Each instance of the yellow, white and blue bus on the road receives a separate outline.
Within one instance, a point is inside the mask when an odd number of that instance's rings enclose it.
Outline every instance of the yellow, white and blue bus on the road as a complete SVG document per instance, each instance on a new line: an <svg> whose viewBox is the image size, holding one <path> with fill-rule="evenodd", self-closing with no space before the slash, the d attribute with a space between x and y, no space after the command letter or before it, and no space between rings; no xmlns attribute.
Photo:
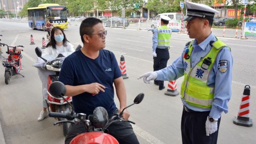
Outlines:
<svg viewBox="0 0 256 144"><path fill-rule="evenodd" d="M39 4L38 7L28 8L28 25L32 29L46 30L46 20L53 26L68 28L67 8L59 4Z"/></svg>

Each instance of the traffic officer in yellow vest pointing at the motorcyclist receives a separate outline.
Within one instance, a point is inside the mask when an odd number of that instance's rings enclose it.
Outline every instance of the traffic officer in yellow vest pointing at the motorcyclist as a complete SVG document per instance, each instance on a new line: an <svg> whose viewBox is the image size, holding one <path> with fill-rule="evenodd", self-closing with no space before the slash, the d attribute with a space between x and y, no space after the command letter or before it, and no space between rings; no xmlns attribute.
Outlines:
<svg viewBox="0 0 256 144"><path fill-rule="evenodd" d="M150 80L176 80L184 76L182 143L216 144L221 114L228 112L233 59L230 48L211 32L214 14L219 12L193 2L186 2L186 9L188 35L195 40L186 44L171 66L139 78L148 84Z"/></svg>

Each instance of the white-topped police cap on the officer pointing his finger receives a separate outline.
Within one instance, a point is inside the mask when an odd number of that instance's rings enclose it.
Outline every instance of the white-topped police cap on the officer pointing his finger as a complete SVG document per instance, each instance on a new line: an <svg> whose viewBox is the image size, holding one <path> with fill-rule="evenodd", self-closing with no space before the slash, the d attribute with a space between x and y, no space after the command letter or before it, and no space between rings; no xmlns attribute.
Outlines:
<svg viewBox="0 0 256 144"><path fill-rule="evenodd" d="M192 20L196 17L212 19L214 18L214 14L220 14L220 12L205 4L186 2L185 6L187 9L187 15L185 16L183 21Z"/></svg>

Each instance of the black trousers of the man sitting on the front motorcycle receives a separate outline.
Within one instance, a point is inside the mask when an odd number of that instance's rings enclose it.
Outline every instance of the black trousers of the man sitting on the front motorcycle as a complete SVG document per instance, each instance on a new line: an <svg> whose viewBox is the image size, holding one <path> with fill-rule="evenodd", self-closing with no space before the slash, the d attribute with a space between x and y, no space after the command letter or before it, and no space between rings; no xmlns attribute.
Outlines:
<svg viewBox="0 0 256 144"><path fill-rule="evenodd" d="M107 129L108 132L106 133L114 136L114 138L118 140L119 144L140 144L129 122L114 122ZM76 125L70 124L65 144L69 144L75 136L85 132L86 130L83 123Z"/></svg>

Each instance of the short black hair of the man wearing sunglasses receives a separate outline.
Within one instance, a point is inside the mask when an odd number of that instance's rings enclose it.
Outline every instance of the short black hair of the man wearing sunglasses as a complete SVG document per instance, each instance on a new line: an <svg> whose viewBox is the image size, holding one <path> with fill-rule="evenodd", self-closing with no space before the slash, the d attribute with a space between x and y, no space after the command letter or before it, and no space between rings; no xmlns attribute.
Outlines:
<svg viewBox="0 0 256 144"><path fill-rule="evenodd" d="M93 33L92 27L98 23L102 23L98 18L86 18L82 21L80 25L80 36L81 40L84 43L84 34L90 35Z"/></svg>

